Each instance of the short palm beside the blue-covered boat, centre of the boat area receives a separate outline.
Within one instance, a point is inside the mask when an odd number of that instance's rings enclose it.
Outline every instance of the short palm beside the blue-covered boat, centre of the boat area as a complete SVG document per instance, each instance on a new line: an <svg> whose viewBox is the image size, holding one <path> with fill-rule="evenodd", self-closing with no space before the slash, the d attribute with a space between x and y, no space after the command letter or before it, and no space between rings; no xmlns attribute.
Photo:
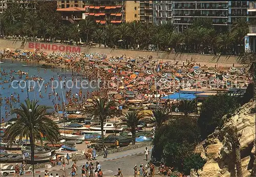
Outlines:
<svg viewBox="0 0 256 177"><path fill-rule="evenodd" d="M124 117L121 118L120 125L126 125L132 130L132 142L135 144L136 139L136 127L140 124L140 120L144 117L139 111L128 111L124 114Z"/></svg>

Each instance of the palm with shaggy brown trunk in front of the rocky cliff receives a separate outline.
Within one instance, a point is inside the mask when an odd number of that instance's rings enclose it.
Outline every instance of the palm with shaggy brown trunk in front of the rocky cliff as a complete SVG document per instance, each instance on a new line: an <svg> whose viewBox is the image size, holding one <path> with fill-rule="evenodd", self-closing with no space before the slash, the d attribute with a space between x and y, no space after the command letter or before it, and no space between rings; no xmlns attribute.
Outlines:
<svg viewBox="0 0 256 177"><path fill-rule="evenodd" d="M243 176L243 172L242 172L242 162L241 162L241 153L240 153L240 138L241 135L240 133L238 133L238 129L237 127L228 127L226 130L227 134L227 141L229 141L232 145L232 153L234 156L234 159L236 159L236 169L237 169L237 176L238 177L242 177Z"/></svg>

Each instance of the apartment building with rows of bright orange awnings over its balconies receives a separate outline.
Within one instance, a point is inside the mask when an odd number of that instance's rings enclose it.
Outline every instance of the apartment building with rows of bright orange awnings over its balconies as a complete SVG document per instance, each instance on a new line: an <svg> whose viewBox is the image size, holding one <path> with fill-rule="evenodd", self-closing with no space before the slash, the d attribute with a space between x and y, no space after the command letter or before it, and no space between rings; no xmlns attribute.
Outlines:
<svg viewBox="0 0 256 177"><path fill-rule="evenodd" d="M125 22L125 1L84 1L84 18L91 17L102 25Z"/></svg>

